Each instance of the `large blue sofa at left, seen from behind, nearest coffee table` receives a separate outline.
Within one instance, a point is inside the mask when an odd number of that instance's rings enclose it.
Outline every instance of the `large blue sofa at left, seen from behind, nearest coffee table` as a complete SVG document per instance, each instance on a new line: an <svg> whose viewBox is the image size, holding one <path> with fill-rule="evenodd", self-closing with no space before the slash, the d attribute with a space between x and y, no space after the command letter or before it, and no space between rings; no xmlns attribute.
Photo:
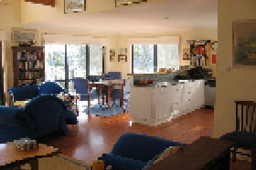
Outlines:
<svg viewBox="0 0 256 170"><path fill-rule="evenodd" d="M62 100L54 95L37 95L25 107L0 106L0 144L21 137L37 139L52 132L69 133L66 118L74 122Z"/></svg>

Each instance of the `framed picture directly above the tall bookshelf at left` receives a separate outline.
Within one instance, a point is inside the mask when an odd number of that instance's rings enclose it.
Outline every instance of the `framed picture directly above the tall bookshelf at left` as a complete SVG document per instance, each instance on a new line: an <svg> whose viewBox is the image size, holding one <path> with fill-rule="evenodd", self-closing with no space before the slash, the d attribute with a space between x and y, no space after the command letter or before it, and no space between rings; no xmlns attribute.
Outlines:
<svg viewBox="0 0 256 170"><path fill-rule="evenodd" d="M13 29L13 43L36 43L37 30L35 29Z"/></svg>

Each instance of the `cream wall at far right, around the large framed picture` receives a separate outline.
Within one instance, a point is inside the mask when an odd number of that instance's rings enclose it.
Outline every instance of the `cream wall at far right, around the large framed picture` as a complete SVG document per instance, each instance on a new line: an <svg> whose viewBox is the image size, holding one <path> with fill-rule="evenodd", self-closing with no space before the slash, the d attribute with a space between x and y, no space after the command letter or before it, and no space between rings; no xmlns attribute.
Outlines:
<svg viewBox="0 0 256 170"><path fill-rule="evenodd" d="M235 130L235 100L256 101L255 67L225 71L232 65L232 22L245 19L256 19L255 0L218 1L219 54L213 137Z"/></svg>

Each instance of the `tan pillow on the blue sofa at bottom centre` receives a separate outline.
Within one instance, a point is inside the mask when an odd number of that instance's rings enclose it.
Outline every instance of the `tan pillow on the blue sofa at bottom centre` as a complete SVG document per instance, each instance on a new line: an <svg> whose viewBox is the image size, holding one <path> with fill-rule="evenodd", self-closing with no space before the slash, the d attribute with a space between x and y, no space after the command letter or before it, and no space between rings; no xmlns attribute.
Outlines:
<svg viewBox="0 0 256 170"><path fill-rule="evenodd" d="M169 146L160 155L155 155L155 157L152 160L148 161L147 164L144 166L144 169L146 169L147 167L150 167L151 165L154 165L155 163L163 160L166 157L174 155L176 151L182 148L183 148L183 145Z"/></svg>

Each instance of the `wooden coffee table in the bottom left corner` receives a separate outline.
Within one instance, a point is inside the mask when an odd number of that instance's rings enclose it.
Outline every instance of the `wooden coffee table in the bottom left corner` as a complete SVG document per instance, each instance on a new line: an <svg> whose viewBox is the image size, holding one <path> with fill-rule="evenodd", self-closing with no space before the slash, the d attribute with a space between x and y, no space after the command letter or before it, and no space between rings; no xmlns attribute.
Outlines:
<svg viewBox="0 0 256 170"><path fill-rule="evenodd" d="M37 149L20 151L13 142L0 144L0 169L15 168L23 164L30 164L31 169L38 169L37 158L58 155L59 149L48 145L38 144Z"/></svg>

